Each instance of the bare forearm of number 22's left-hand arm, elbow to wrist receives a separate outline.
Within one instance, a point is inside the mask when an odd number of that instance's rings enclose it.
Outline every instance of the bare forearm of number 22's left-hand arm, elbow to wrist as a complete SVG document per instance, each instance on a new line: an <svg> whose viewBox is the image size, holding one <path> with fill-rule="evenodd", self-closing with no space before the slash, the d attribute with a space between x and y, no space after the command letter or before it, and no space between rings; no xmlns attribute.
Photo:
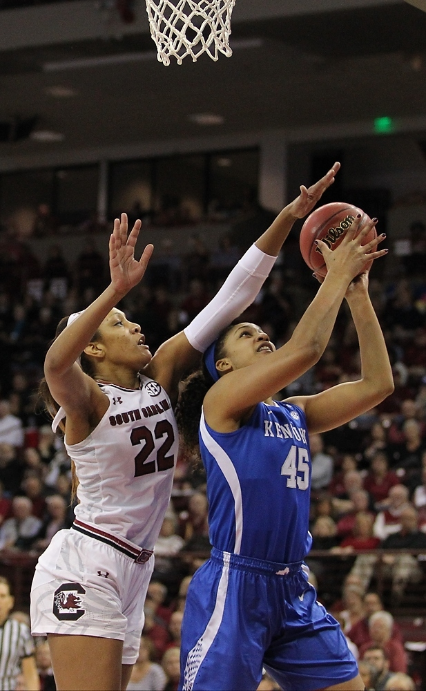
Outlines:
<svg viewBox="0 0 426 691"><path fill-rule="evenodd" d="M93 339L93 334L110 310L124 297L112 285L93 301L81 315L59 334L46 354L45 372L68 370Z"/></svg>

